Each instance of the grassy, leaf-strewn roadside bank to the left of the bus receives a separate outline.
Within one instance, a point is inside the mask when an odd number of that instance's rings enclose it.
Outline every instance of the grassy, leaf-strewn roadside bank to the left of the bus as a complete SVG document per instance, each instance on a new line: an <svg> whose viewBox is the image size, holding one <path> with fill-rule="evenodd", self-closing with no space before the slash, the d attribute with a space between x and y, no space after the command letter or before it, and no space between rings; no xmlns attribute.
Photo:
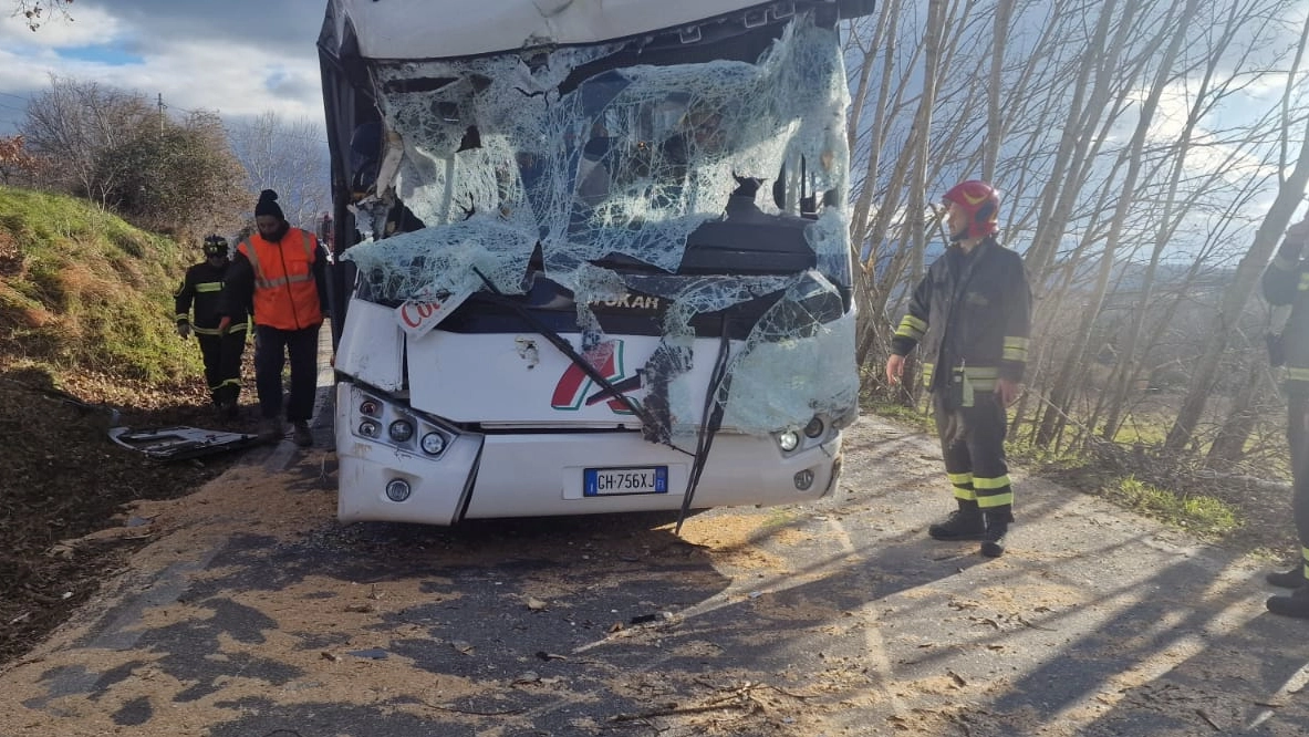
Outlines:
<svg viewBox="0 0 1309 737"><path fill-rule="evenodd" d="M187 249L85 202L0 187L0 661L120 562L122 505L183 495L229 457L158 465L106 435L213 427L195 340L173 327ZM127 535L141 538L141 535ZM96 542L103 541L103 542Z"/></svg>

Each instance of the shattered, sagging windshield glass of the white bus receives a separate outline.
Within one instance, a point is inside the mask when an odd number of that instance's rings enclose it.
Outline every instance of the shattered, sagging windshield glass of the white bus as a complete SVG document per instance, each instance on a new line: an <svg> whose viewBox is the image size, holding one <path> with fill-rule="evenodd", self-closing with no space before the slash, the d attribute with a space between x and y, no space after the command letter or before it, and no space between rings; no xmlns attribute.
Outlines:
<svg viewBox="0 0 1309 737"><path fill-rule="evenodd" d="M734 365L759 374L759 386L776 385L767 365L749 367L785 357L791 373L813 372L812 385L781 402L729 402L728 418L767 432L802 427L816 411L848 414L857 394L853 321L831 314L830 301L817 313L804 306L817 304L814 289L848 305L851 285L836 33L800 16L749 60L699 63L634 64L636 43L377 65L394 162L382 164L377 191L393 189L421 226L353 246L346 258L373 298L390 301L467 289L518 295L543 274L573 293L590 334L600 331L590 305L653 295L672 305L664 342L678 350L690 346L695 315L780 295ZM795 243L779 247L804 250L812 266L691 272L692 234L703 240L702 225L723 223L732 200L745 200L738 221L792 233ZM384 233L390 208L380 198L360 203L361 232L372 221ZM796 342L812 344L795 350ZM764 360L779 350L795 352ZM732 391L749 378L737 376ZM679 429L675 419L670 425Z"/></svg>

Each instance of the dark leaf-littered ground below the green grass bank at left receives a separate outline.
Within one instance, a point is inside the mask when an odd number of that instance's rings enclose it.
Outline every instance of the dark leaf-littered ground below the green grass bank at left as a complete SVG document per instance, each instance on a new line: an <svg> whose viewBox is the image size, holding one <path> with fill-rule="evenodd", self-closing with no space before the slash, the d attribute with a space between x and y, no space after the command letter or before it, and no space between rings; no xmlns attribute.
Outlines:
<svg viewBox="0 0 1309 737"><path fill-rule="evenodd" d="M60 382L89 404L131 403L134 425L204 425L200 376L171 386L67 376ZM33 369L0 368L0 661L29 649L97 589L135 546L154 539L148 516L124 504L183 496L226 469L233 458L160 465L115 446L105 422L39 390L54 380ZM51 539L59 541L52 543ZM67 596L65 596L67 594Z"/></svg>

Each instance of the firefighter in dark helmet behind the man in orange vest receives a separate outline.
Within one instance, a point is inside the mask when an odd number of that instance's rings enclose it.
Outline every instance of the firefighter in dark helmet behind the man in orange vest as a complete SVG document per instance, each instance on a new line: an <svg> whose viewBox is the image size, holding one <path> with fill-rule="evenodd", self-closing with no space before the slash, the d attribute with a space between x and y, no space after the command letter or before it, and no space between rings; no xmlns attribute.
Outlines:
<svg viewBox="0 0 1309 737"><path fill-rule="evenodd" d="M177 288L177 334L185 340L195 333L204 357L204 378L209 397L221 419L237 418L237 399L241 395L241 353L245 352L246 321L233 321L224 334L219 330L223 318L220 302L228 272L228 241L223 236L204 238L204 262L186 270L186 279ZM195 312L195 322L188 313Z"/></svg>

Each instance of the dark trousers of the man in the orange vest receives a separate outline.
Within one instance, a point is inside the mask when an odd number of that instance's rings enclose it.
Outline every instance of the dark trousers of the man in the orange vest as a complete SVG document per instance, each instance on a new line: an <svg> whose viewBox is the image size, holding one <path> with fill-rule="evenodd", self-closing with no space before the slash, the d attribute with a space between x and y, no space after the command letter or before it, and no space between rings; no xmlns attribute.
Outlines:
<svg viewBox="0 0 1309 737"><path fill-rule="evenodd" d="M287 419L308 422L314 416L318 391L318 327L278 330L255 326L254 384L259 391L259 412L264 419L281 416L281 369L291 360L291 394Z"/></svg>

